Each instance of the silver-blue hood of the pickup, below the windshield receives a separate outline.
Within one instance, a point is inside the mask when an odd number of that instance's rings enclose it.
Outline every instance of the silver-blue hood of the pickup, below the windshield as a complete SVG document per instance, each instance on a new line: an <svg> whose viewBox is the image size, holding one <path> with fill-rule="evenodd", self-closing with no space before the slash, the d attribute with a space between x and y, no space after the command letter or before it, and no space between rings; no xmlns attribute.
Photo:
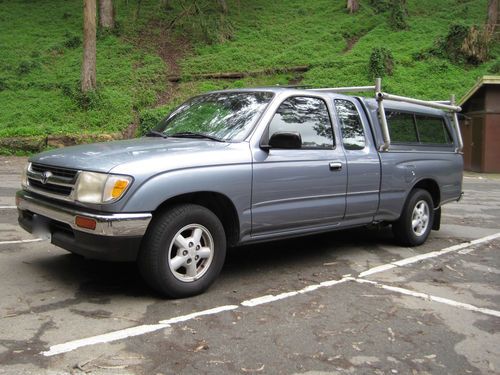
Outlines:
<svg viewBox="0 0 500 375"><path fill-rule="evenodd" d="M46 151L32 156L30 161L61 168L109 172L122 164L141 161L151 163L166 155L177 159L186 154L205 154L207 151L222 150L228 145L192 138L144 137Z"/></svg>

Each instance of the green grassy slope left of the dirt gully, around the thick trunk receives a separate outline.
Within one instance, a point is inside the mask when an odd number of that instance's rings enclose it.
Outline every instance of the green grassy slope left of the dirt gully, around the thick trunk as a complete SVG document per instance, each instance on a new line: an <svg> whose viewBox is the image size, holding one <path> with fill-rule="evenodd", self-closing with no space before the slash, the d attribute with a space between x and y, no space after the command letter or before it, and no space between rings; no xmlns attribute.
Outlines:
<svg viewBox="0 0 500 375"><path fill-rule="evenodd" d="M127 24L126 2L117 8ZM98 90L82 108L80 0L0 2L0 20L0 137L119 132L163 89L163 61L125 42L128 27L98 38Z"/></svg>

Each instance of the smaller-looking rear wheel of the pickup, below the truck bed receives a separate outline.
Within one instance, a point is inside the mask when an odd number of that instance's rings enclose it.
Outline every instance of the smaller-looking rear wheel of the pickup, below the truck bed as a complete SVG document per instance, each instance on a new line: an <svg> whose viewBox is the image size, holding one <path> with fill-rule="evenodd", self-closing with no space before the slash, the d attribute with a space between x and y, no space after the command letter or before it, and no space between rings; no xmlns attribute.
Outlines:
<svg viewBox="0 0 500 375"><path fill-rule="evenodd" d="M403 246L422 245L429 237L434 219L434 203L427 190L411 191L398 221L392 224L392 232Z"/></svg>

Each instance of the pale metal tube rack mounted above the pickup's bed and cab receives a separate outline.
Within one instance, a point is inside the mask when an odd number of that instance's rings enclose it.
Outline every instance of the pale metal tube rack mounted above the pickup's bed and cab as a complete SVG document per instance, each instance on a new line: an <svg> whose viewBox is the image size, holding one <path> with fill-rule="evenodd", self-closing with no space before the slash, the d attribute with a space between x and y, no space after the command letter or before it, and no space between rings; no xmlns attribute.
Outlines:
<svg viewBox="0 0 500 375"><path fill-rule="evenodd" d="M382 127L382 137L384 138L384 144L380 146L380 151L387 151L389 149L389 146L391 145L389 127L387 126L387 119L385 117L384 99L395 100L404 103L418 104L425 107L437 108L451 112L453 125L457 133L457 140L458 140L457 151L461 152L463 149L462 135L460 133L460 126L458 124L458 117L457 117L457 113L460 112L462 108L455 105L455 95L452 95L451 99L448 101L428 101L428 100L409 98L406 96L388 94L382 91L382 79L380 78L375 79L375 86L331 87L331 88L321 88L321 89L311 89L311 90L335 92L335 93L374 91L375 100L378 103L378 116Z"/></svg>

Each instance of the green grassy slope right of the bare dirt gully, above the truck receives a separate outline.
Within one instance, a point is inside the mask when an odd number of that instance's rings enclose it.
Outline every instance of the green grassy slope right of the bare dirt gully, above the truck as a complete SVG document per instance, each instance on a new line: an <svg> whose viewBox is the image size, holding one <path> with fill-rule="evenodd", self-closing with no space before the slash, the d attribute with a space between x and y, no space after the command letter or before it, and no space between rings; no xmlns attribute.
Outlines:
<svg viewBox="0 0 500 375"><path fill-rule="evenodd" d="M238 8L237 3L241 4ZM350 15L345 1L288 0L232 1L230 19L236 25L234 39L217 45L196 44L195 53L182 62L186 76L202 72L245 71L311 65L302 83L317 86L372 84L368 78L371 50L385 47L395 58L394 74L385 77L384 87L401 95L424 99L458 97L482 75L491 74L500 48L493 46L493 58L479 67L453 65L440 58L415 61L413 54L429 49L445 36L451 24L481 24L486 17L486 0L409 3L407 31L393 31L388 15L376 13L368 0ZM285 5L286 4L286 5ZM350 51L346 39L359 40Z"/></svg>

